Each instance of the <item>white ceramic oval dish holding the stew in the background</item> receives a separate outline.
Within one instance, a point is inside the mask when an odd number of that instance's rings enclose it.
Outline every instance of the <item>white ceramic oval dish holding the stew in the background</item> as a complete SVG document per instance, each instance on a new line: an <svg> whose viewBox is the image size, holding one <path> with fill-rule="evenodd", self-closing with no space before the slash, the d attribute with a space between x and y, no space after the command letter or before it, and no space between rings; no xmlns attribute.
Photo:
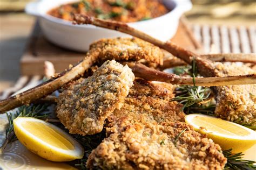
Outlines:
<svg viewBox="0 0 256 170"><path fill-rule="evenodd" d="M102 29L93 25L72 25L63 19L47 14L49 10L61 4L78 0L41 0L26 5L26 13L37 16L45 37L56 45L75 51L85 52L91 42L101 38L127 37L127 34ZM166 8L171 10L163 16L150 20L129 23L130 26L150 34L154 38L167 41L177 31L179 18L192 8L190 0L163 0Z"/></svg>

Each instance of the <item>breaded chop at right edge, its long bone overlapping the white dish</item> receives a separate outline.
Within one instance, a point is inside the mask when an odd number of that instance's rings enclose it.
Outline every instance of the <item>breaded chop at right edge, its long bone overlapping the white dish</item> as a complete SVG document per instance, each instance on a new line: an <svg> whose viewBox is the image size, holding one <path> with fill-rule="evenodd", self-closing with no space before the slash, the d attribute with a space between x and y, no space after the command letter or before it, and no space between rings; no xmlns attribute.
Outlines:
<svg viewBox="0 0 256 170"><path fill-rule="evenodd" d="M205 77L222 77L241 74L246 74L248 76L248 74L251 74L251 77L249 79L251 79L251 83L253 83L252 85L223 86L215 88L217 91L217 105L215 109L215 115L227 119L228 121L240 120L241 123L255 124L256 73L253 72L251 68L244 66L242 70L239 70L239 67L235 65L226 66L220 62L214 63L211 60L201 58L199 54L178 47L172 42L162 42L158 39L155 39L143 32L129 27L125 23L100 20L97 18L83 15L75 15L75 21L78 24L92 24L107 29L124 32L134 37L138 37L145 41L151 42L152 44L159 46L160 48L165 49L174 56L177 56L178 58L184 60L188 64L190 64L194 58L198 66L199 73Z"/></svg>

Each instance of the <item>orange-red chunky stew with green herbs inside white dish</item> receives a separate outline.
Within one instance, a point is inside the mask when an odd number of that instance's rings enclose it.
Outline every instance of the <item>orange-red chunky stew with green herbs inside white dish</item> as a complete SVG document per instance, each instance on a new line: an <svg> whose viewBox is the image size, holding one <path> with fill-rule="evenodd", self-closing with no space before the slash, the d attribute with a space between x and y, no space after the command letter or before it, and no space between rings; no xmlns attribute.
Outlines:
<svg viewBox="0 0 256 170"><path fill-rule="evenodd" d="M48 12L49 15L73 20L74 13L119 22L137 22L156 18L169 12L158 0L83 0L60 5Z"/></svg>

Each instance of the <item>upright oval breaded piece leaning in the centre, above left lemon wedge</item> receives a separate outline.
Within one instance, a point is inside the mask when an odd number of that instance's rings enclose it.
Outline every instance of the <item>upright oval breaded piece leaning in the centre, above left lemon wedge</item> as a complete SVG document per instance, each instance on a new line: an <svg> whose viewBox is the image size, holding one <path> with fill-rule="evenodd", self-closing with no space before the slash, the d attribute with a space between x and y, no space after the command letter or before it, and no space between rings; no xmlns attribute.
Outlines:
<svg viewBox="0 0 256 170"><path fill-rule="evenodd" d="M106 61L92 76L77 80L60 94L57 117L70 133L98 133L107 116L122 107L133 80L129 67Z"/></svg>

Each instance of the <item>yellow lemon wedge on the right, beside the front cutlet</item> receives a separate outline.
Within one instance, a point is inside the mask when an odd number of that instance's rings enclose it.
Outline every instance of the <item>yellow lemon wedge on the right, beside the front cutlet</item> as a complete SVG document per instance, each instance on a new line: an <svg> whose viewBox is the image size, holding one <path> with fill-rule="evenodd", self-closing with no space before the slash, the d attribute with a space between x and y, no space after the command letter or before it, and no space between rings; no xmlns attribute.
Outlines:
<svg viewBox="0 0 256 170"><path fill-rule="evenodd" d="M201 114L187 115L185 122L199 133L207 134L223 150L232 148L233 153L238 153L256 144L255 131L233 122Z"/></svg>

